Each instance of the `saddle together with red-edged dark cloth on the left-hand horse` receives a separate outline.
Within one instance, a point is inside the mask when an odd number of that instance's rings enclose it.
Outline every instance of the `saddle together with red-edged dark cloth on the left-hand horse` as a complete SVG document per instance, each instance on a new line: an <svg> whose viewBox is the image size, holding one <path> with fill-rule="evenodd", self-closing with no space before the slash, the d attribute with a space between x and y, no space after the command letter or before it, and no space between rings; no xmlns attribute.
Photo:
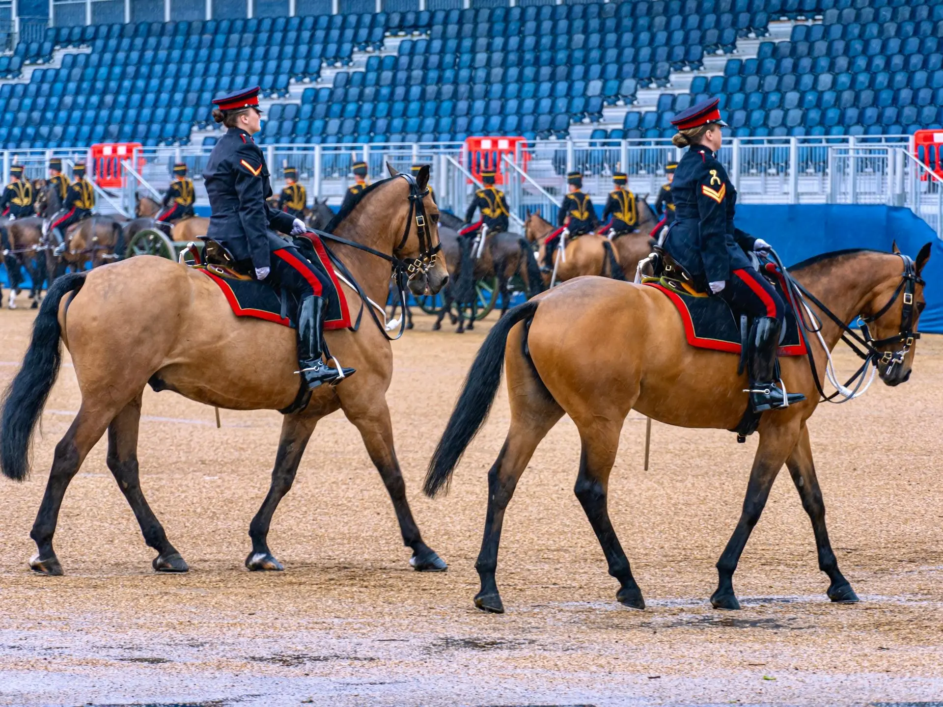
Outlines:
<svg viewBox="0 0 943 707"><path fill-rule="evenodd" d="M288 290L276 290L267 282L256 280L249 274L252 264L237 260L222 243L205 236L200 240L204 242L202 255L195 246L187 249L193 256L193 265L190 267L204 272L223 290L233 314L298 328L299 303ZM294 246L330 280L331 286L325 287L322 292L325 302L324 330L351 327L347 299L321 239L313 235L294 238Z"/></svg>

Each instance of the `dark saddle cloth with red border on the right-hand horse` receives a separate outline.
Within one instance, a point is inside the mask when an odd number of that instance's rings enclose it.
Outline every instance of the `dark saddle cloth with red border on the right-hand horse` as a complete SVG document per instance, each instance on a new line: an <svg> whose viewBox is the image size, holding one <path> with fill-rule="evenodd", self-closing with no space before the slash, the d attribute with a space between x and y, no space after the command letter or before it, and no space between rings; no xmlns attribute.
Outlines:
<svg viewBox="0 0 943 707"><path fill-rule="evenodd" d="M805 338L793 313L792 298L784 291L782 274L772 263L767 263L764 270L769 273L773 286L786 303L786 333L780 342L779 355L804 356ZM685 325L688 344L699 349L740 353L742 346L739 318L734 316L730 305L720 297L691 295L682 288L666 287L660 282L647 282L645 285L664 292L674 304Z"/></svg>

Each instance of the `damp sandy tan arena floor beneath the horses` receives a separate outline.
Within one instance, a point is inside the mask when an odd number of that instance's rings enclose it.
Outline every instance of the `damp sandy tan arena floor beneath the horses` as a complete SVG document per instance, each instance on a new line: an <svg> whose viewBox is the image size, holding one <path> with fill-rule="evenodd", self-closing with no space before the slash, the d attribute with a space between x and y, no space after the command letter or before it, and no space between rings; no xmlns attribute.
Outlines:
<svg viewBox="0 0 943 707"><path fill-rule="evenodd" d="M0 385L32 314L0 312ZM486 473L505 435L504 393L455 473L422 497L425 464L487 326L416 329L394 344L397 452L425 540L444 574L407 565L392 506L354 427L325 419L273 522L284 573L252 573L250 518L269 483L274 412L144 396L141 478L190 563L151 570L153 551L105 465L104 440L66 496L61 578L26 562L53 448L79 404L63 368L34 472L0 480L0 703L16 705L943 705L943 337L924 337L911 381L820 406L811 422L829 530L861 596L831 604L788 474L773 487L736 573L744 605L707 598L734 528L756 441L625 424L610 512L648 608L617 583L572 494L579 446L564 419L538 448L505 520L505 616L477 612L473 563ZM487 322L486 322L487 324ZM852 370L852 357L838 356Z"/></svg>

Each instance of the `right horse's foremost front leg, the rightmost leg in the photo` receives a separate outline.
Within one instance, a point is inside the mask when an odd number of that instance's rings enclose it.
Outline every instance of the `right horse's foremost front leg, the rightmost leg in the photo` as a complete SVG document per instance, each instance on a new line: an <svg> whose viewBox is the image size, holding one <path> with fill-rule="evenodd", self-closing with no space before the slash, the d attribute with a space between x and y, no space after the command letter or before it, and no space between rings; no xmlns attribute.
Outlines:
<svg viewBox="0 0 943 707"><path fill-rule="evenodd" d="M833 601L851 603L858 600L852 584L838 569L838 560L832 551L832 544L828 539L828 530L825 528L825 503L822 501L822 492L819 488L819 478L816 476L816 466L812 461L812 446L809 444L809 431L802 425L802 432L796 448L786 459L786 467L792 475L792 481L802 499L802 508L809 514L812 521L812 532L816 535L816 548L819 551L819 569L828 575L832 584L828 588L828 597Z"/></svg>

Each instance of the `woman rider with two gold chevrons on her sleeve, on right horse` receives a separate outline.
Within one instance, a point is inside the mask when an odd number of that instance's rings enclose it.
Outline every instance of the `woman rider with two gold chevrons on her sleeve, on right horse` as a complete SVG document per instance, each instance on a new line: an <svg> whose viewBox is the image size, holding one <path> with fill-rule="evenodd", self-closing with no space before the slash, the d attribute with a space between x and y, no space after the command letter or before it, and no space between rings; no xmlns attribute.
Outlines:
<svg viewBox="0 0 943 707"><path fill-rule="evenodd" d="M671 184L675 219L664 248L696 284L722 298L737 319L753 318L749 338L750 402L753 410L786 407L805 400L777 385L776 349L786 317L786 305L755 268L746 252L769 250L769 243L753 238L734 225L736 189L717 159L723 141L720 99L703 101L678 113L671 124L671 141L688 147ZM706 286L706 287L705 287Z"/></svg>

